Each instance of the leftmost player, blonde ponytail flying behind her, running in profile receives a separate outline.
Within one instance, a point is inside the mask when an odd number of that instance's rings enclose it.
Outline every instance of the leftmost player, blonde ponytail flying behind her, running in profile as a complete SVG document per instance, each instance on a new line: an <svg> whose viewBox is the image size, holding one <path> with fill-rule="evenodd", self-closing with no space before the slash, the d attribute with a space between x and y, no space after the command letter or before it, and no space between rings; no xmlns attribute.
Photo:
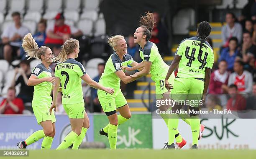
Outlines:
<svg viewBox="0 0 256 159"><path fill-rule="evenodd" d="M54 77L51 77L49 65L53 62L53 54L49 47L38 48L31 33L23 38L23 49L27 52L28 59L36 58L41 60L28 79L28 86L34 86L32 108L37 119L37 123L43 127L31 134L25 141L18 142L18 149L25 149L28 145L37 142L44 137L41 149L50 149L55 135L55 116L49 114L51 106L51 90L53 89Z"/></svg>

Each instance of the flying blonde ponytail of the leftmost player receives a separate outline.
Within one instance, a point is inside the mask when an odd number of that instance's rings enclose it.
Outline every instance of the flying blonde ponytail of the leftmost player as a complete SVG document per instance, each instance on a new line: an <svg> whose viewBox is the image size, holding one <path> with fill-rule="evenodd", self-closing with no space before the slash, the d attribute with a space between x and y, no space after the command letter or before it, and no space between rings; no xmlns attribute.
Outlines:
<svg viewBox="0 0 256 159"><path fill-rule="evenodd" d="M28 33L23 38L22 47L25 50L26 57L28 57L28 59L41 59L41 55L44 55L46 53L46 50L49 48L45 46L41 46L40 48L38 48L38 45L32 37L31 33Z"/></svg>

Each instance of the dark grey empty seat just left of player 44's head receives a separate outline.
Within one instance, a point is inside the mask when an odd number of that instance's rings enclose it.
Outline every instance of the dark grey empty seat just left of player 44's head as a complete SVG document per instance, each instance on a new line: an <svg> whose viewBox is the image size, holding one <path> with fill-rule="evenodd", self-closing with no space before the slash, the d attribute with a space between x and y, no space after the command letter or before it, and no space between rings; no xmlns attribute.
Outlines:
<svg viewBox="0 0 256 159"><path fill-rule="evenodd" d="M172 21L174 35L187 35L189 27L195 25L195 10L182 9L174 16Z"/></svg>

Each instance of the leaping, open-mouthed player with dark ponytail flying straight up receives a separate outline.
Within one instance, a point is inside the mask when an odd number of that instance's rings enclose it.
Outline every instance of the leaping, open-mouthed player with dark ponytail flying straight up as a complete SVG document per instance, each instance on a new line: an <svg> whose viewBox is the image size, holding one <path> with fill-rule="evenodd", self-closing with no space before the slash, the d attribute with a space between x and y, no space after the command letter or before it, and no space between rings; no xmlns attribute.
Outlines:
<svg viewBox="0 0 256 159"><path fill-rule="evenodd" d="M140 45L140 56L143 60L139 65L135 67L122 67L124 70L137 70L143 68L140 72L136 72L131 77L136 78L139 76L145 76L151 73L151 79L156 83L156 99L164 100L169 98L169 90L164 87L164 79L168 72L169 66L162 60L159 54L158 48L153 42L150 42L151 31L154 27L153 13L147 12L145 16L141 16L139 22L140 27L134 32L134 42ZM174 81L174 73L169 78L169 82L172 84ZM167 110L170 106L162 105L160 110ZM164 119L168 127L168 116L166 114L160 114ZM183 118L185 122L189 123L189 119ZM181 137L178 129L176 132L176 144L177 148L182 148L187 142Z"/></svg>

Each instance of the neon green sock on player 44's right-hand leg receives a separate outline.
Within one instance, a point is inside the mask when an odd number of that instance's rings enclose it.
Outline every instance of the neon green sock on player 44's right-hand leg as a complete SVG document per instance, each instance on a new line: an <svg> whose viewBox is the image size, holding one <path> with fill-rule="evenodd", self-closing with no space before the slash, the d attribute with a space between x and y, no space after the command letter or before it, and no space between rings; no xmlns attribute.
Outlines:
<svg viewBox="0 0 256 159"><path fill-rule="evenodd" d="M190 127L192 130L192 145L197 144L198 146L198 136L199 136L199 131L200 131L200 119L198 116L193 116L190 119Z"/></svg>

